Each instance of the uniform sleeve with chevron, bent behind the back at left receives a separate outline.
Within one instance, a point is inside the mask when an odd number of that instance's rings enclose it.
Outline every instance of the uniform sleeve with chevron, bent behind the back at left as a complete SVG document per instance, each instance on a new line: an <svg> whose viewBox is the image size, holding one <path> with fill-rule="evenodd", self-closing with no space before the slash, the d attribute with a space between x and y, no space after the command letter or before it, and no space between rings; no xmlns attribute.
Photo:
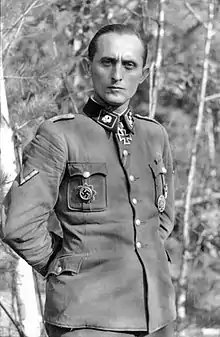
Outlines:
<svg viewBox="0 0 220 337"><path fill-rule="evenodd" d="M44 122L24 151L23 172L7 194L2 240L39 273L59 249L61 238L48 231L66 166L66 144L51 121Z"/></svg>

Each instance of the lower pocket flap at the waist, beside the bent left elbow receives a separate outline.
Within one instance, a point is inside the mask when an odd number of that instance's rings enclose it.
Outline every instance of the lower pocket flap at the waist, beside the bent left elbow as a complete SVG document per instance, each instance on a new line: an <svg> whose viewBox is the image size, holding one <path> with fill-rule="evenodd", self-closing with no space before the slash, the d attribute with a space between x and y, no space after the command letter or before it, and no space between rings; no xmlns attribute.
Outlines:
<svg viewBox="0 0 220 337"><path fill-rule="evenodd" d="M55 258L48 268L46 277L48 277L50 274L58 276L64 272L78 274L83 259L83 256L77 255L66 255Z"/></svg>

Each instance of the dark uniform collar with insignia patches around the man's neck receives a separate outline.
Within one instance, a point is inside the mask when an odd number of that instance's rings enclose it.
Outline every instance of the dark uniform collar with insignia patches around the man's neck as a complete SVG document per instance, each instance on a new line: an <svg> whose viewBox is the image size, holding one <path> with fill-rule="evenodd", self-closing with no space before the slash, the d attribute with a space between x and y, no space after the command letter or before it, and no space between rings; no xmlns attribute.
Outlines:
<svg viewBox="0 0 220 337"><path fill-rule="evenodd" d="M117 133L118 124L122 122L129 133L134 133L134 119L130 108L119 116L114 112L112 106L104 107L89 98L83 111L88 117L93 118L98 124L110 132Z"/></svg>

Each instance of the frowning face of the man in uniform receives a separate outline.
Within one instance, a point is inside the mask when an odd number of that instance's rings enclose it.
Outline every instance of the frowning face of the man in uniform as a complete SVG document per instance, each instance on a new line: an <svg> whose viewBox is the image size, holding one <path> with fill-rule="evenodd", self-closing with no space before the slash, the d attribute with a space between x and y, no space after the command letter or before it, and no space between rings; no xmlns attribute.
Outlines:
<svg viewBox="0 0 220 337"><path fill-rule="evenodd" d="M100 103L127 107L145 78L143 54L144 47L136 35L107 33L100 36L90 64L94 98Z"/></svg>

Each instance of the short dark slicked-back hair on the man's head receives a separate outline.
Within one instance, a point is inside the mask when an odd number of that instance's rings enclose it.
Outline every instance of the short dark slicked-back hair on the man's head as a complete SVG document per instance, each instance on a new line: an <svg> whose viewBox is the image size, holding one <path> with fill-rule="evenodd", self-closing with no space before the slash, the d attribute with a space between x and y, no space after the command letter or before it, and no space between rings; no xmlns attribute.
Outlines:
<svg viewBox="0 0 220 337"><path fill-rule="evenodd" d="M123 24L120 24L120 23L115 23L115 24L103 26L97 31L97 33L94 35L94 37L90 41L89 47L88 47L88 57L89 57L90 61L93 60L94 55L96 53L98 39L100 38L100 36L102 36L104 34L108 34L108 33L117 33L119 35L130 34L130 35L137 36L138 39L140 40L140 42L142 43L143 47L144 47L143 64L144 65L146 64L148 49L147 49L147 45L144 43L142 37L132 26L123 25Z"/></svg>

